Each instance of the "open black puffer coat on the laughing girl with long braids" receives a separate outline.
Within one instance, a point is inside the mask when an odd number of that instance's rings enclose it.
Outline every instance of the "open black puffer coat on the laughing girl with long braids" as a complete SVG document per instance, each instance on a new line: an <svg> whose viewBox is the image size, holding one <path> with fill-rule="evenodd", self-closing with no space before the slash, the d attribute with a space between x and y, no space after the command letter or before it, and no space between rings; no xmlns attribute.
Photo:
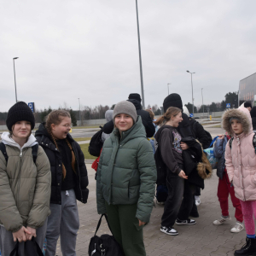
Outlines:
<svg viewBox="0 0 256 256"><path fill-rule="evenodd" d="M62 181L62 160L61 153L52 142L49 133L44 127L44 123L39 125L36 131L38 144L44 148L44 152L49 158L51 172L51 195L50 203L61 205L61 181ZM73 140L70 134L67 134L67 139L71 143L73 152L76 158L76 186L74 188L77 200L86 203L89 195L88 174L84 164L84 154L79 146L79 143Z"/></svg>

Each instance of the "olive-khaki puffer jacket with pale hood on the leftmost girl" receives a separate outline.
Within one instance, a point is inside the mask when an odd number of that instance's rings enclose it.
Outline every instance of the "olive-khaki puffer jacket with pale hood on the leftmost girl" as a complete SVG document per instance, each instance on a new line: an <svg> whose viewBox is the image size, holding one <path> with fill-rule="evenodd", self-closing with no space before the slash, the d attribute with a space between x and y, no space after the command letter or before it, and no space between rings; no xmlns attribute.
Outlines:
<svg viewBox="0 0 256 256"><path fill-rule="evenodd" d="M6 166L0 151L0 224L13 233L20 230L22 225L38 229L50 214L49 160L39 146L34 164L31 147L36 143L36 138L33 135L20 148L9 138L9 132L4 133L2 139L9 159Z"/></svg>

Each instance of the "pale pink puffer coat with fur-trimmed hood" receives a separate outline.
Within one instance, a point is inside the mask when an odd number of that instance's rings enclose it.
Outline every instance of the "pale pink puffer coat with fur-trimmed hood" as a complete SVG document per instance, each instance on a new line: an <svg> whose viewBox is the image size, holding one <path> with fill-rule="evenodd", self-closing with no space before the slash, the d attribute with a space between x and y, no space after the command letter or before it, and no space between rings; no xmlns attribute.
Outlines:
<svg viewBox="0 0 256 256"><path fill-rule="evenodd" d="M232 131L230 118L241 120L243 132L237 135ZM234 137L230 149L227 143L225 151L226 169L233 181L235 194L241 201L256 201L256 154L253 148L252 119L247 108L227 110L223 115L223 127Z"/></svg>

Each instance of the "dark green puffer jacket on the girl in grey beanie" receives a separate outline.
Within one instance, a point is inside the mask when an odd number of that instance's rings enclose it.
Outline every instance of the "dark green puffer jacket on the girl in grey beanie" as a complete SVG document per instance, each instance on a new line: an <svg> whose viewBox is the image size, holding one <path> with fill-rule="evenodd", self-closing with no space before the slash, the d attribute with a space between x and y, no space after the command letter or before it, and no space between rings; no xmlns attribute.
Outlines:
<svg viewBox="0 0 256 256"><path fill-rule="evenodd" d="M148 222L154 205L156 167L151 144L140 116L120 138L115 128L102 149L97 169L96 199L99 214L105 201L113 205L137 203L136 218Z"/></svg>

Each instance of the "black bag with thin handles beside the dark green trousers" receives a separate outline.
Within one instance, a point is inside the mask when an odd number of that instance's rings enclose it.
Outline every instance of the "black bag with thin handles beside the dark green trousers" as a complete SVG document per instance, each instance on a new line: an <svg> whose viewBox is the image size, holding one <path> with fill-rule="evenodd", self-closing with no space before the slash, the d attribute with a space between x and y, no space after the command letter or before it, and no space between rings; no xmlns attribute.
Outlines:
<svg viewBox="0 0 256 256"><path fill-rule="evenodd" d="M108 223L107 215L102 214L102 217L103 216L105 216ZM99 230L102 224L102 217L98 222L96 232ZM111 231L109 224L108 224L108 228ZM104 234L99 237L99 236L96 236L96 232L94 236L90 238L90 244L88 249L89 256L125 256L122 248L119 246L119 243L114 239L113 236Z"/></svg>

